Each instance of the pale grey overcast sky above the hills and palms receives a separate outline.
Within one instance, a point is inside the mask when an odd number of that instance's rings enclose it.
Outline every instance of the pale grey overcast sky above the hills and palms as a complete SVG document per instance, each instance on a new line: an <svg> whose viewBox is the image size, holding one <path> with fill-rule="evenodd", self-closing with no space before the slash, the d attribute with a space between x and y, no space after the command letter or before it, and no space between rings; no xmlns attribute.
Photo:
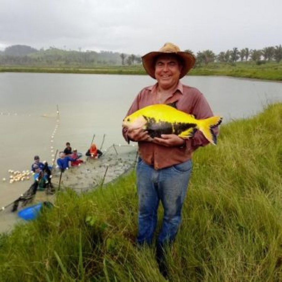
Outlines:
<svg viewBox="0 0 282 282"><path fill-rule="evenodd" d="M281 0L0 0L0 50L261 49L282 44L281 11Z"/></svg>

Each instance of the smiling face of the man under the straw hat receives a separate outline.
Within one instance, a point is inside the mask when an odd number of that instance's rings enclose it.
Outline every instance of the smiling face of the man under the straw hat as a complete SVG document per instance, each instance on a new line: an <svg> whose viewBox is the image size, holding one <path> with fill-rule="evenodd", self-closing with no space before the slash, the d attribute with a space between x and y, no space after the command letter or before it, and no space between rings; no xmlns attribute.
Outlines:
<svg viewBox="0 0 282 282"><path fill-rule="evenodd" d="M159 86L170 89L178 84L182 66L173 55L161 55L156 60L155 76Z"/></svg>

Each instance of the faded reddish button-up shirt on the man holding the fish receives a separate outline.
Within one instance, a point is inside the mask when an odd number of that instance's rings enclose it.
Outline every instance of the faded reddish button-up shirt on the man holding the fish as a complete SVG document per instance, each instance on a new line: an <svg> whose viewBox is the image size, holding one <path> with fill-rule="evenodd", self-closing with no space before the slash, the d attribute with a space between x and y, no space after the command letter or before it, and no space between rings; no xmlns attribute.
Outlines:
<svg viewBox="0 0 282 282"><path fill-rule="evenodd" d="M152 104L158 104L157 83L142 89L134 99L126 116ZM204 119L213 116L212 110L203 94L196 88L178 83L176 91L167 98L164 104L176 102L178 110L193 114L196 119ZM218 129L213 129L218 133ZM123 136L129 143L127 129L123 128ZM152 142L138 142L138 154L148 165L153 165L154 169L159 170L171 165L180 164L191 159L192 152L199 146L205 146L209 141L198 130L193 138L185 139L186 146L166 147Z"/></svg>

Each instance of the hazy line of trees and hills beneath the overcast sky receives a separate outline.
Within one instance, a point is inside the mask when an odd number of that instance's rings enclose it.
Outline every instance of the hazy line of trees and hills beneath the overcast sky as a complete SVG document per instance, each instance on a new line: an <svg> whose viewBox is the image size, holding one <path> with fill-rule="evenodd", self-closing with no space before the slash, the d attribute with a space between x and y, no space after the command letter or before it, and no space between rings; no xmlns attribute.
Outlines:
<svg viewBox="0 0 282 282"><path fill-rule="evenodd" d="M235 64L240 61L254 61L258 65L267 61L280 62L282 60L282 46L270 46L259 49L243 48L238 50L222 51L215 54L212 50L199 51L196 54L192 50L185 50L196 56L196 67L202 64L208 65L210 62L225 62ZM63 50L55 47L49 49L36 50L26 45L12 45L4 51L0 51L0 65L135 65L141 64L142 59L138 55L118 53L112 51L95 52L91 50L79 51Z"/></svg>

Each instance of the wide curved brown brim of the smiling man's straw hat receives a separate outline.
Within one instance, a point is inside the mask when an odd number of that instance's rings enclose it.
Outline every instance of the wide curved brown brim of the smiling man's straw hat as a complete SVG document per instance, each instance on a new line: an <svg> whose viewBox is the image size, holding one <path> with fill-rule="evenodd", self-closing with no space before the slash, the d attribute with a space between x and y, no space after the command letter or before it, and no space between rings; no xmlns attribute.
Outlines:
<svg viewBox="0 0 282 282"><path fill-rule="evenodd" d="M180 57L181 60L183 61L183 67L180 72L179 78L182 78L183 76L185 76L188 73L188 71L191 70L191 68L193 67L196 61L196 58L194 57L194 55L190 53L182 52L182 51L180 52L158 52L158 51L150 52L142 57L142 62L143 62L144 69L146 70L148 75L153 77L154 79L156 79L155 77L155 58L158 55L164 55L164 54L166 55L175 54L178 57Z"/></svg>

